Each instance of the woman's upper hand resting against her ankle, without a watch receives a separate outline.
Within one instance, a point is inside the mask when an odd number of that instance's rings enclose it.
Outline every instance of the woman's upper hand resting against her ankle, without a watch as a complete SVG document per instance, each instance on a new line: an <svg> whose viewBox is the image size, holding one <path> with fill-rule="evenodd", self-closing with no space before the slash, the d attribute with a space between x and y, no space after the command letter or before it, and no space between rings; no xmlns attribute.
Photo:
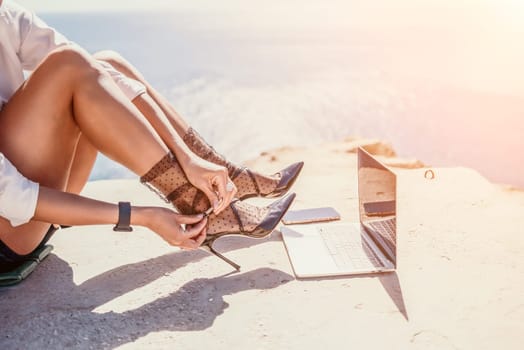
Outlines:
<svg viewBox="0 0 524 350"><path fill-rule="evenodd" d="M214 213L218 214L231 203L237 188L228 176L227 169L193 156L183 166L188 180L205 193Z"/></svg>

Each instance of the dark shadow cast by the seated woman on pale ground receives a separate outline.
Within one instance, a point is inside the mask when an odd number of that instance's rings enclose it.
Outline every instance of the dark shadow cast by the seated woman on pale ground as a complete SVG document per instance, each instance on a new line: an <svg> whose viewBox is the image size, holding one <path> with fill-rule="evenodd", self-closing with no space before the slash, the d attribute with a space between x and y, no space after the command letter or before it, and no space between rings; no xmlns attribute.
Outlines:
<svg viewBox="0 0 524 350"><path fill-rule="evenodd" d="M252 244L255 241L244 245ZM24 283L0 290L0 348L112 349L150 332L203 330L228 307L224 296L276 288L293 280L284 272L261 268L197 278L165 297L122 313L93 311L205 256L202 251L166 254L76 285L68 263L50 255Z"/></svg>

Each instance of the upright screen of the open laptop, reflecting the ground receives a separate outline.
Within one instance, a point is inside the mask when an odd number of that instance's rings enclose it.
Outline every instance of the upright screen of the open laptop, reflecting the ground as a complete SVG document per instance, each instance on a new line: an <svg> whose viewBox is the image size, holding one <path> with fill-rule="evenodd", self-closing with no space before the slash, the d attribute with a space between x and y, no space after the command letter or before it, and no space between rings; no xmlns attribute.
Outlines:
<svg viewBox="0 0 524 350"><path fill-rule="evenodd" d="M361 225L396 266L396 176L362 148L358 149L358 198Z"/></svg>

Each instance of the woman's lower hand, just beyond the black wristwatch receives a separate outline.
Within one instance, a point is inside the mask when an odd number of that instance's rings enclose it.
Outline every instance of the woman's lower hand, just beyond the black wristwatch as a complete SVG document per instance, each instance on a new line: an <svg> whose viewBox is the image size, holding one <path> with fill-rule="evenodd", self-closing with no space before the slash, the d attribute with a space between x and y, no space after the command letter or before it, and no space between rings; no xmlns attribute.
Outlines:
<svg viewBox="0 0 524 350"><path fill-rule="evenodd" d="M154 231L170 245L196 249L206 238L207 218L202 214L181 215L163 207L133 207L131 213L132 222Z"/></svg>

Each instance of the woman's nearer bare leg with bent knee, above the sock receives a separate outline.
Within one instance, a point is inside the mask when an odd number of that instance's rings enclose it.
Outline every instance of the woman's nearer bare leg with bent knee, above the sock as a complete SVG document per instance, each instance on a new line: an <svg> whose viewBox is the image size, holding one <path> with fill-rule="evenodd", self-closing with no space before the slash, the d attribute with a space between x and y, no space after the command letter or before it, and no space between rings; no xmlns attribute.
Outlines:
<svg viewBox="0 0 524 350"><path fill-rule="evenodd" d="M66 190L82 134L138 175L167 153L136 107L88 55L57 50L1 111L0 151L29 179ZM0 218L0 239L27 254L48 227L31 221L13 228Z"/></svg>

